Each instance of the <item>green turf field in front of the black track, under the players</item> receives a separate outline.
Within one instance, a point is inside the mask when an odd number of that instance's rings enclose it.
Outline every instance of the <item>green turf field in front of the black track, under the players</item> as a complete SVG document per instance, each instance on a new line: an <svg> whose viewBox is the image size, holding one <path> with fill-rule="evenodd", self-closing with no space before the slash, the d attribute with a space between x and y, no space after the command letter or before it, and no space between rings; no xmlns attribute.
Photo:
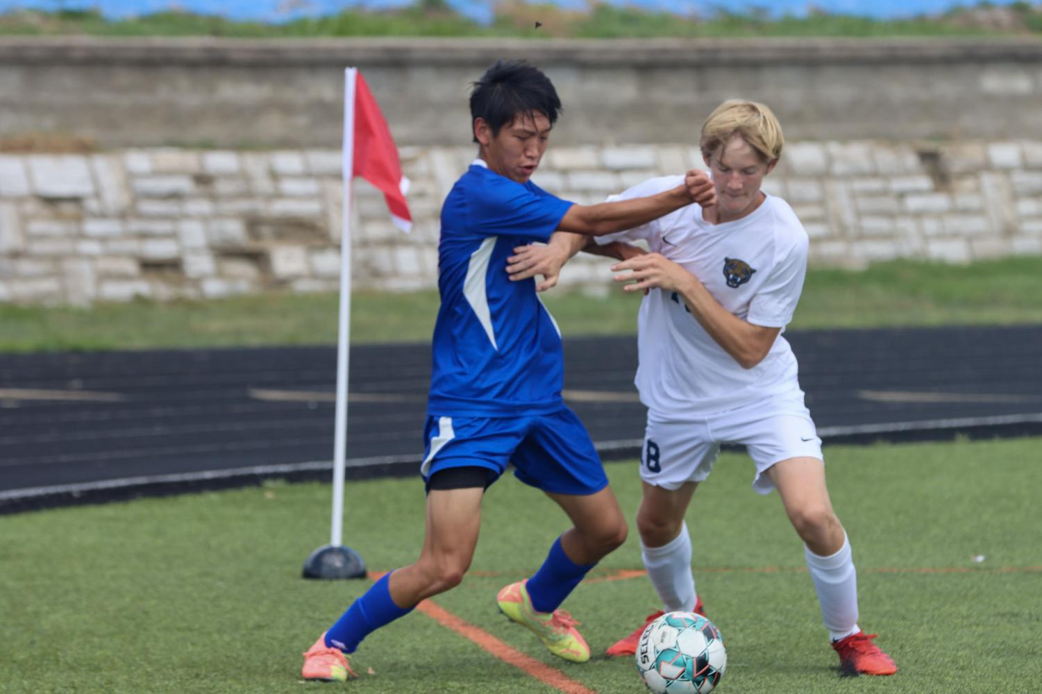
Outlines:
<svg viewBox="0 0 1042 694"><path fill-rule="evenodd" d="M699 594L727 644L722 694L1039 691L1042 439L827 447L833 500L850 535L861 624L900 672L840 678L801 546L751 464L724 454L699 490ZM607 466L628 517L632 463ZM328 539L328 485L270 485L0 517L0 692L294 692L300 653L368 581L299 577ZM415 559L416 479L349 484L347 544L371 569ZM643 691L630 659L555 661L495 610L530 574L563 515L504 477L485 504L473 573L436 602L600 693ZM974 562L983 555L983 562ZM636 534L598 567L641 567ZM601 651L655 608L646 578L590 581L566 609ZM354 659L357 692L549 693L423 614L372 635Z"/></svg>

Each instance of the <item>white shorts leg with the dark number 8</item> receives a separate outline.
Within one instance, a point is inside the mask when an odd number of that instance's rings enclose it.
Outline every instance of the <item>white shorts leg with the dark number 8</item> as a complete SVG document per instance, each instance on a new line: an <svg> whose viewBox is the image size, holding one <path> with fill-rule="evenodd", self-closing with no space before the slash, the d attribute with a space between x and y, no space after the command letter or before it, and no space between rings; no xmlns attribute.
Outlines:
<svg viewBox="0 0 1042 694"><path fill-rule="evenodd" d="M713 472L719 454L720 444L713 439L704 422L649 417L641 449L641 480L647 487L676 492L690 482L704 481Z"/></svg>

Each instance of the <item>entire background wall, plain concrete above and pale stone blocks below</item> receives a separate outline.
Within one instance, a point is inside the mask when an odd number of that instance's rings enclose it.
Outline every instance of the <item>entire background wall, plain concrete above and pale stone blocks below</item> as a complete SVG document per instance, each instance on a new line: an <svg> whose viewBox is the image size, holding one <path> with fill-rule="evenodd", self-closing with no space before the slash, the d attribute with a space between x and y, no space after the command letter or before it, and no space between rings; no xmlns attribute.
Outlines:
<svg viewBox="0 0 1042 694"><path fill-rule="evenodd" d="M414 180L416 230L356 185L356 287L433 287L438 208L474 155L468 84L526 57L566 111L537 180L594 202L697 166L725 98L770 104L789 145L767 190L812 262L1042 253L1042 42L0 39L0 301L88 303L334 290L343 68L376 95ZM605 262L566 280L606 291Z"/></svg>

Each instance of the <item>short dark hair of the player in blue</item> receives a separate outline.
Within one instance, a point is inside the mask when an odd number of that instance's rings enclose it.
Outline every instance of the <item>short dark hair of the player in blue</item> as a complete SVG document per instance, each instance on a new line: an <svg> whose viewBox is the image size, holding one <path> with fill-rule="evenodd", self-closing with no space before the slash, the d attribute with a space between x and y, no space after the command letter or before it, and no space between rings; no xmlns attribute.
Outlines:
<svg viewBox="0 0 1042 694"><path fill-rule="evenodd" d="M540 113L553 125L557 111L562 110L553 82L539 68L524 60L496 60L473 86L470 93L472 137L474 121L478 118L483 119L496 135L518 116ZM476 137L474 142L477 142Z"/></svg>

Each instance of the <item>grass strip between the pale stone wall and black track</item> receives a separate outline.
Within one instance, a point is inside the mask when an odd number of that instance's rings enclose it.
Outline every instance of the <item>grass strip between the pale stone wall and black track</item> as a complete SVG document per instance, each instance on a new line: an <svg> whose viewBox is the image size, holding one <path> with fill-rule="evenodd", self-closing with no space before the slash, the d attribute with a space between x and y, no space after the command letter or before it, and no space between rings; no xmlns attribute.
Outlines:
<svg viewBox="0 0 1042 694"><path fill-rule="evenodd" d="M789 327L1042 323L1039 277L1042 257L1032 256L811 268ZM554 289L543 298L566 338L635 333L640 298L610 289L604 297ZM92 308L0 305L0 352L336 344L338 302L336 294L266 294ZM351 343L428 342L438 304L433 291L356 292Z"/></svg>

